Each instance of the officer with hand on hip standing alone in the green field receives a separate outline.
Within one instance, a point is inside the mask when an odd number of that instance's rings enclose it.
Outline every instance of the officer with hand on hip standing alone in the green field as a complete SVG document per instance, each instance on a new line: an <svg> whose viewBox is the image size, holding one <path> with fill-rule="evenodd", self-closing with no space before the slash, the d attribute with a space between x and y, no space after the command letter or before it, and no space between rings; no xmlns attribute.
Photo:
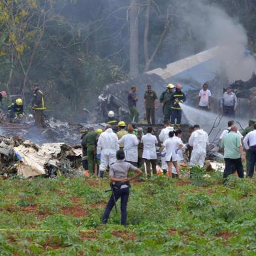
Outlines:
<svg viewBox="0 0 256 256"><path fill-rule="evenodd" d="M121 225L126 225L127 203L130 193L129 182L138 178L138 176L142 174L142 171L131 163L125 162L125 152L123 152L123 150L118 150L116 159L116 163L110 165L109 171L110 182L111 185L113 185L113 193L104 210L102 221L104 224L107 223L110 212L115 205L115 201L121 198ZM127 178L129 170L136 172L131 178Z"/></svg>

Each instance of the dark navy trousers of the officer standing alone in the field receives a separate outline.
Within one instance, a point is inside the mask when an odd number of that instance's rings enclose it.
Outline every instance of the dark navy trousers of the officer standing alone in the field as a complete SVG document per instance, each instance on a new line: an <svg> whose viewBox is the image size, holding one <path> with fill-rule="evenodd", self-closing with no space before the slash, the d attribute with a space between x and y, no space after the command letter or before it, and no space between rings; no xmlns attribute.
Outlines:
<svg viewBox="0 0 256 256"><path fill-rule="evenodd" d="M121 225L126 225L127 219L127 203L129 199L130 189L129 187L125 187L124 189L115 189L114 188L114 197L116 201L121 197ZM103 214L103 223L108 221L108 217L110 216L110 212L115 205L113 194L111 195L108 204L106 205L106 209Z"/></svg>

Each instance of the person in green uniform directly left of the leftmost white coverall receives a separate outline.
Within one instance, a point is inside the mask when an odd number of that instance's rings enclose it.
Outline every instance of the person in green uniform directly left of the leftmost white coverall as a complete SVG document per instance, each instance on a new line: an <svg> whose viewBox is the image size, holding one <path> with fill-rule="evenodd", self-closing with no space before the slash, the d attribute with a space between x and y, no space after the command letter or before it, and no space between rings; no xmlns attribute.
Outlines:
<svg viewBox="0 0 256 256"><path fill-rule="evenodd" d="M94 174L95 140L97 136L98 136L98 133L94 131L93 127L89 127L89 131L85 139L86 139L86 148L87 148L88 170L91 175Z"/></svg>

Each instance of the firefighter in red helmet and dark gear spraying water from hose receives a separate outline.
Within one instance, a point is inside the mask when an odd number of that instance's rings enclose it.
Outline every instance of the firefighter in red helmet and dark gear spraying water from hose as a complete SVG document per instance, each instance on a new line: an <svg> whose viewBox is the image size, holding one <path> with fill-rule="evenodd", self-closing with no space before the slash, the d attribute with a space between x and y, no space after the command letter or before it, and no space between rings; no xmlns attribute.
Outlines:
<svg viewBox="0 0 256 256"><path fill-rule="evenodd" d="M186 100L185 94L182 92L182 85L176 84L176 89L172 95L170 95L170 101L172 103L172 117L171 117L171 125L180 126L180 122L182 121L182 108L179 103L184 103Z"/></svg>

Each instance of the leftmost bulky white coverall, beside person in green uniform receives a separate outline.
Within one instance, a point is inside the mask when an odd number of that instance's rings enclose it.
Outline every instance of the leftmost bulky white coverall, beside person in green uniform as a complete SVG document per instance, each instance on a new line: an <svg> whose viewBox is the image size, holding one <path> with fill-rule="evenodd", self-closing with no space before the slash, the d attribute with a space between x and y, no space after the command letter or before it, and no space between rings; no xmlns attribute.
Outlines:
<svg viewBox="0 0 256 256"><path fill-rule="evenodd" d="M118 136L111 128L106 129L99 136L97 154L101 154L100 171L105 171L108 166L116 162L116 152L119 150Z"/></svg>

